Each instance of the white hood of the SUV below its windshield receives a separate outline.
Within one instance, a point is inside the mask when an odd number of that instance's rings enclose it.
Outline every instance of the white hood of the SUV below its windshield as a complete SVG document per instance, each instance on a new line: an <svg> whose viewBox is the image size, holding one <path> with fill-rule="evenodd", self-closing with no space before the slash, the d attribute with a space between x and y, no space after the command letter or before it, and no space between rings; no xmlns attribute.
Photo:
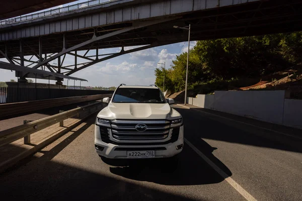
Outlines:
<svg viewBox="0 0 302 201"><path fill-rule="evenodd" d="M169 104L109 103L99 114L104 119L175 119L181 116Z"/></svg>

